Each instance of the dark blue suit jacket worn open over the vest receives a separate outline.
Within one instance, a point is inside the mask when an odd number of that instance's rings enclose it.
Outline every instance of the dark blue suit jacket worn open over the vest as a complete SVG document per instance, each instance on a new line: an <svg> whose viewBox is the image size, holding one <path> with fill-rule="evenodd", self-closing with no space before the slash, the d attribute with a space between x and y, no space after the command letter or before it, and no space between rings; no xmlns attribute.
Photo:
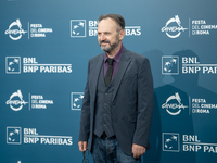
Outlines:
<svg viewBox="0 0 217 163"><path fill-rule="evenodd" d="M79 141L87 141L91 152L98 78L104 53L90 59L82 100ZM149 60L124 49L115 74L112 120L122 150L132 155L132 143L150 148L149 134L154 104L153 79Z"/></svg>

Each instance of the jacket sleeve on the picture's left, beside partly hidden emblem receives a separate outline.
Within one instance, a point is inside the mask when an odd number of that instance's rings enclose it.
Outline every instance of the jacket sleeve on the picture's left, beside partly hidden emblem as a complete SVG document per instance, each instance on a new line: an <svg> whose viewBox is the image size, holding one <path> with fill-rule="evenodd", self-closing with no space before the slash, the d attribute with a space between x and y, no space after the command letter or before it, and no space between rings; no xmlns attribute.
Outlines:
<svg viewBox="0 0 217 163"><path fill-rule="evenodd" d="M90 73L90 61L88 63L88 77L85 88L85 97L82 99L82 108L80 115L80 130L79 141L88 141L90 134L90 92L89 92L89 73Z"/></svg>

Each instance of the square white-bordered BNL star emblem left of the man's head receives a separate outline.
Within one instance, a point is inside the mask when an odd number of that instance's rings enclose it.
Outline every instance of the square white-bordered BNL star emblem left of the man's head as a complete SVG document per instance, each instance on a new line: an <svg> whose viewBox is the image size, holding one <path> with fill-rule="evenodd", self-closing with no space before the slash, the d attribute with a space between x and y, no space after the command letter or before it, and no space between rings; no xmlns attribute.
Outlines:
<svg viewBox="0 0 217 163"><path fill-rule="evenodd" d="M86 37L86 20L71 20L71 37Z"/></svg>

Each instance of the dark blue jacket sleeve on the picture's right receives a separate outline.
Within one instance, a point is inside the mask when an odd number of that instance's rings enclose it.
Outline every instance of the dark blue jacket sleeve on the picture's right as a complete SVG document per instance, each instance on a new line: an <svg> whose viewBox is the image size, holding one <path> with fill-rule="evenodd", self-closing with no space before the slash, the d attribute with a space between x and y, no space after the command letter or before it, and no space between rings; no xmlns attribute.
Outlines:
<svg viewBox="0 0 217 163"><path fill-rule="evenodd" d="M138 117L133 143L149 148L149 135L154 106L154 88L150 62L146 58L138 70Z"/></svg>

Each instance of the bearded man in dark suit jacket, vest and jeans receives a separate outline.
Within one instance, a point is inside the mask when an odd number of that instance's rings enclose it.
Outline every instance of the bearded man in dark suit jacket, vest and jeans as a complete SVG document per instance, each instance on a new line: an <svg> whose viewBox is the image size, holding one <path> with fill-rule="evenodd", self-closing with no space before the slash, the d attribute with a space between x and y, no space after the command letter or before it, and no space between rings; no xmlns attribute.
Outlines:
<svg viewBox="0 0 217 163"><path fill-rule="evenodd" d="M101 15L98 41L103 51L90 59L82 100L79 150L95 163L137 163L150 148L154 91L149 60L122 43L125 21Z"/></svg>

